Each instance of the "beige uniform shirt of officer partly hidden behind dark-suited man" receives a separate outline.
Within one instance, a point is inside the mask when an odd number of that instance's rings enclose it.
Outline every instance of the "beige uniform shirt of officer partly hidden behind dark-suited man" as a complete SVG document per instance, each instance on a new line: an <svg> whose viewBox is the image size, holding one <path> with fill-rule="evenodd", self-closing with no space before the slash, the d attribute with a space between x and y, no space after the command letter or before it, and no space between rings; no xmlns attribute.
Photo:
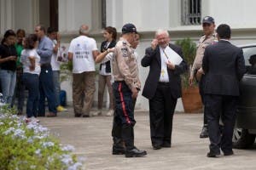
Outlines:
<svg viewBox="0 0 256 170"><path fill-rule="evenodd" d="M212 34L211 36L202 36L197 44L197 49L196 49L196 55L195 55L195 60L193 63L193 66L191 68L190 76L194 75L195 70L199 70L202 65L202 59L205 53L205 49L207 48L208 45L214 43L216 41L216 36L215 34Z"/></svg>

